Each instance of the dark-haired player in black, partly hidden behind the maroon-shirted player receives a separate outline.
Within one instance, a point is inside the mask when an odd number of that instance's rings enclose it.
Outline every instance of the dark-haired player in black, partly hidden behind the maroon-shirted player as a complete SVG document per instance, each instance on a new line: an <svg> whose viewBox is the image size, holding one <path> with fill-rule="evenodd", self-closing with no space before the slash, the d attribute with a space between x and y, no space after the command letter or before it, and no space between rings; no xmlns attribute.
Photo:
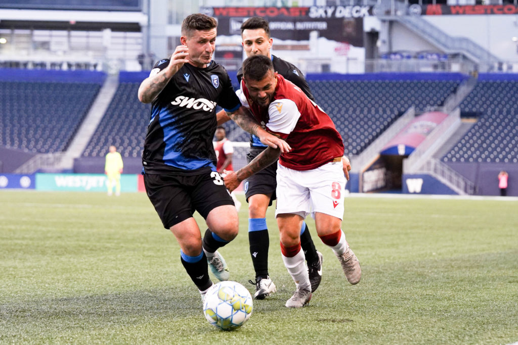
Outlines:
<svg viewBox="0 0 518 345"><path fill-rule="evenodd" d="M286 80L297 85L308 97L314 101L304 74L293 64L272 55L270 52L273 39L270 37L270 27L268 22L261 17L252 17L241 25L242 46L247 57L253 55L264 55L271 59L274 69ZM238 82L241 83L243 76L240 68L237 73ZM224 112L218 113L218 123L221 124L227 120ZM266 148L257 137L250 138L250 153L247 155L247 161L257 157ZM345 158L347 159L347 158ZM344 164L349 165L349 160ZM265 169L257 172L247 179L244 184L244 191L248 206L249 214L249 232L248 238L250 243L250 256L255 269L255 294L254 298L263 299L274 293L277 289L274 282L270 279L268 273L268 250L269 236L266 225L266 211L272 201L277 199L276 195L276 176L277 164L271 164ZM348 176L349 178L349 176ZM322 280L322 253L316 250L313 239L309 232L306 222L303 222L300 229L301 246L306 254L308 265L309 279L311 281L311 291L314 292ZM252 281L251 281L252 282Z"/></svg>

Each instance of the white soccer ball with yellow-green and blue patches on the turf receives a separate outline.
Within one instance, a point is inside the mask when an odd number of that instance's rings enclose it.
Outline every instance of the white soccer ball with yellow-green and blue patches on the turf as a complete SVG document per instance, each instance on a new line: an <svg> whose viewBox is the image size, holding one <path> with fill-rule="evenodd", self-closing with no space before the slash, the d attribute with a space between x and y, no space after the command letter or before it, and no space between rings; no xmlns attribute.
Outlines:
<svg viewBox="0 0 518 345"><path fill-rule="evenodd" d="M252 295L235 281L214 284L203 300L203 313L207 320L224 331L242 326L250 319L252 309Z"/></svg>

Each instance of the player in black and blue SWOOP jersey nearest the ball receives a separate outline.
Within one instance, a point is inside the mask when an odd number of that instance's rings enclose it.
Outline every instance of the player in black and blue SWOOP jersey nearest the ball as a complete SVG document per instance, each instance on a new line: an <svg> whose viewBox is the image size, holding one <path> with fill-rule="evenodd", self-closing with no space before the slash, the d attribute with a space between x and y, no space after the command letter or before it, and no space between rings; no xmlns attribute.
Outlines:
<svg viewBox="0 0 518 345"><path fill-rule="evenodd" d="M283 152L290 149L241 107L226 70L212 61L216 34L214 18L200 13L186 17L182 45L170 59L159 61L138 89L138 99L152 104L142 154L146 192L164 227L175 235L181 262L202 298L212 286L208 264L219 280L228 280L217 249L238 233L236 207L215 167L216 105L263 143ZM194 211L211 229L203 240Z"/></svg>

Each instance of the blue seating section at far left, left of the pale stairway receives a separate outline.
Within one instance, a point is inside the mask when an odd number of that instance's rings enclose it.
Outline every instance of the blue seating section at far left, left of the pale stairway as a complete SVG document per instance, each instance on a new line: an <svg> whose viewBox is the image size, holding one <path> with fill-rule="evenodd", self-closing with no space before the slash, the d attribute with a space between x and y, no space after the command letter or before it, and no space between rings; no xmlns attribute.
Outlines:
<svg viewBox="0 0 518 345"><path fill-rule="evenodd" d="M100 86L0 81L0 145L32 153L65 151Z"/></svg>

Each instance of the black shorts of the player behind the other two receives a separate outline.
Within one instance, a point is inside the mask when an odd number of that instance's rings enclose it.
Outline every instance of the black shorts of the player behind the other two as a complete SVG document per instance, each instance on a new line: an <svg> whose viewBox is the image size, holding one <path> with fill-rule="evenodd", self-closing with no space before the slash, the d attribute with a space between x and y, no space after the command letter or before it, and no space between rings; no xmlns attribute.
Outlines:
<svg viewBox="0 0 518 345"><path fill-rule="evenodd" d="M252 159L257 157L262 150L250 149L250 153L247 154L247 162L250 163ZM244 195L248 198L255 194L270 194L270 203L277 199L275 189L277 188L277 161L270 164L268 167L261 171L256 172L244 182Z"/></svg>

